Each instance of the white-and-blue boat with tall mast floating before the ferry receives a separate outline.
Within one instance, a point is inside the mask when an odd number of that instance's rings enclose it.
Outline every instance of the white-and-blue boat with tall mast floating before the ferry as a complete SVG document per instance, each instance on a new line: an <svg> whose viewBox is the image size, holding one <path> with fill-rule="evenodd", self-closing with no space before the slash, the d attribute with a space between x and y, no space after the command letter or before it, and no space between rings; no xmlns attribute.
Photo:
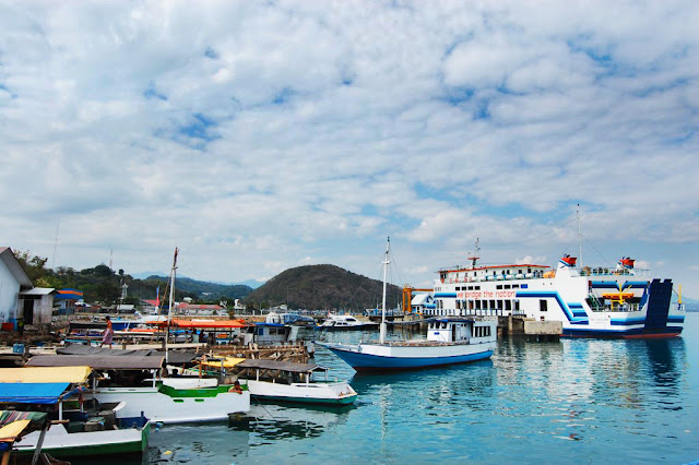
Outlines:
<svg viewBox="0 0 699 465"><path fill-rule="evenodd" d="M391 263L390 240L383 259L383 306L387 271ZM438 319L429 323L426 339L387 341L386 311L381 314L378 342L359 344L317 343L355 370L407 370L487 359L493 355L497 322L493 319Z"/></svg>

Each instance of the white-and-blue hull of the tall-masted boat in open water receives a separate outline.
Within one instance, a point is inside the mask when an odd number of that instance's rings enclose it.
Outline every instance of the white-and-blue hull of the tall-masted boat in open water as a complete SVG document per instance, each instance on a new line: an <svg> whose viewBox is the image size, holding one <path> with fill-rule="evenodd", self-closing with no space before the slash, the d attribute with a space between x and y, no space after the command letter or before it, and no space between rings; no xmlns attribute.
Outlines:
<svg viewBox="0 0 699 465"><path fill-rule="evenodd" d="M415 347L325 345L357 371L415 370L469 363L490 358L494 346L495 344Z"/></svg>

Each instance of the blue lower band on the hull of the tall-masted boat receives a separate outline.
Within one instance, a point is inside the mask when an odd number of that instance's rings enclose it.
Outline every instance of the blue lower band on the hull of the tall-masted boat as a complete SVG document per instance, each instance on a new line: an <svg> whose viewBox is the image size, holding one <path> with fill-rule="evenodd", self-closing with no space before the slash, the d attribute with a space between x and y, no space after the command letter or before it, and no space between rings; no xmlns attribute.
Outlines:
<svg viewBox="0 0 699 465"><path fill-rule="evenodd" d="M451 357L381 357L376 355L357 354L328 347L337 357L357 371L362 370L412 370L425 367L440 367L445 365L467 363L490 358L493 350L477 354L458 355Z"/></svg>

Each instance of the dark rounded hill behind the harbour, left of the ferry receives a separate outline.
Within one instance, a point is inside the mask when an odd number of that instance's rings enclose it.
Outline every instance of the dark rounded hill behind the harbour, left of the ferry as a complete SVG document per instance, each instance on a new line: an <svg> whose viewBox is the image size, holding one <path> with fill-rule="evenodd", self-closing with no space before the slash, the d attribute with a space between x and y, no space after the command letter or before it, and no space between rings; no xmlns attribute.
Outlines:
<svg viewBox="0 0 699 465"><path fill-rule="evenodd" d="M356 310L381 305L383 284L335 265L307 265L286 270L253 290L245 302L254 307L287 303L289 309ZM387 308L395 308L401 289L389 285Z"/></svg>

